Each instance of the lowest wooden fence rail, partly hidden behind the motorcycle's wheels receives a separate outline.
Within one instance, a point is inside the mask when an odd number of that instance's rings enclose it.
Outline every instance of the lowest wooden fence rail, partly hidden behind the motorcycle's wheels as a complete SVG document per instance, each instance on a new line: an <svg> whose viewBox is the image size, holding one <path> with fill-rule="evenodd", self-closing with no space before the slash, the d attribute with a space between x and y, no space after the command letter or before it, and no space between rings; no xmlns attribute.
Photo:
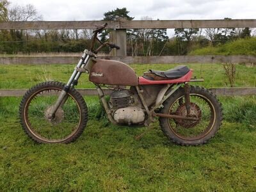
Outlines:
<svg viewBox="0 0 256 192"><path fill-rule="evenodd" d="M96 89L77 89L81 95L98 95ZM256 95L256 88L210 88L212 93L220 96L234 95ZM0 89L0 97L22 97L27 89ZM104 89L104 93L109 95L112 90Z"/></svg>

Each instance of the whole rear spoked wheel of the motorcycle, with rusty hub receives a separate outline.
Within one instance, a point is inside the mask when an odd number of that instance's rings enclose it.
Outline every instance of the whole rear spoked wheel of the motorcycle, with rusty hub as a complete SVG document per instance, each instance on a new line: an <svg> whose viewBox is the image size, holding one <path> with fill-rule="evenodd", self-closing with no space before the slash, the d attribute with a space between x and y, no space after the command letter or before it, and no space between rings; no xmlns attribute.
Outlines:
<svg viewBox="0 0 256 192"><path fill-rule="evenodd" d="M180 145L206 143L218 131L222 120L221 104L216 96L205 88L190 86L190 114L184 98L184 90L177 92L164 102L162 113L189 116L195 120L159 118L163 132L170 140Z"/></svg>

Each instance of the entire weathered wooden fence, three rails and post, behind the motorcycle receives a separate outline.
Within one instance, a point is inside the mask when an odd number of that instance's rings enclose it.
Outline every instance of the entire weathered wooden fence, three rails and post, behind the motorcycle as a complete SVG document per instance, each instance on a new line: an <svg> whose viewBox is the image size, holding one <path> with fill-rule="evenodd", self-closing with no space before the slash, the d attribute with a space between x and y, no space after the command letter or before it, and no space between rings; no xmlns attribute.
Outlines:
<svg viewBox="0 0 256 192"><path fill-rule="evenodd" d="M108 22L107 29L115 30L115 43L121 49L115 57L108 57L125 63L256 63L255 56L136 56L126 54L126 29L159 28L256 28L256 19L232 20L93 20L93 21L35 21L0 22L1 29L95 29ZM106 58L106 57L104 57ZM0 64L51 64L76 63L77 57L2 57ZM212 88L216 95L256 95L256 88ZM0 90L0 97L21 96L26 90ZM95 95L94 89L79 90L82 95ZM108 90L106 93L110 93Z"/></svg>

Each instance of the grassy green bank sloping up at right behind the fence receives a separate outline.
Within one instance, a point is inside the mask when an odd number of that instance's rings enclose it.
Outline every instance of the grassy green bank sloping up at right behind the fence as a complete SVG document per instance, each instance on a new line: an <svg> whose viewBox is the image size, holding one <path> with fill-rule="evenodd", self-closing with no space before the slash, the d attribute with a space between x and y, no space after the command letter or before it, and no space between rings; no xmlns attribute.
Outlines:
<svg viewBox="0 0 256 192"><path fill-rule="evenodd" d="M190 55L256 55L256 38L245 38L220 44L216 47L204 47L189 52Z"/></svg>

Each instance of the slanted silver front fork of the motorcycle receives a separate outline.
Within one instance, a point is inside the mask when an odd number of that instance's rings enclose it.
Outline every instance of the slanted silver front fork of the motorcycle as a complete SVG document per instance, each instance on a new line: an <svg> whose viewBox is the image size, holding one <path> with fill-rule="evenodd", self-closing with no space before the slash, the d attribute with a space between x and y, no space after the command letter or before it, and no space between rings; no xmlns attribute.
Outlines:
<svg viewBox="0 0 256 192"><path fill-rule="evenodd" d="M68 90L72 87L74 87L75 85L77 85L77 81L79 79L79 77L81 76L82 72L79 71L79 68L84 68L84 66L86 65L86 63L88 62L90 55L86 54L87 51L84 51L83 56L81 57L81 59L79 60L79 62L76 65L76 68L72 74L72 76L70 77L70 79L68 80L68 83L65 85L65 87L63 88L63 90L60 93L60 96L58 97L56 103L52 106L50 114L49 114L49 118L54 118L56 111L63 106L63 104L65 104L65 102L68 99L67 93Z"/></svg>

